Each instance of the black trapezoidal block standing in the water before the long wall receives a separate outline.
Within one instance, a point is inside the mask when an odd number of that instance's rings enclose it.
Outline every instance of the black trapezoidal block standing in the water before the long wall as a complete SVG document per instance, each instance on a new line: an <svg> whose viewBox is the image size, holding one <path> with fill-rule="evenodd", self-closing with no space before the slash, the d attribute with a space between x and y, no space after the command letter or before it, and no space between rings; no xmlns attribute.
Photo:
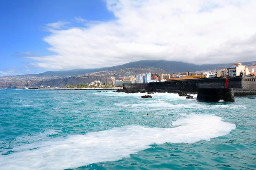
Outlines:
<svg viewBox="0 0 256 170"><path fill-rule="evenodd" d="M197 100L200 102L235 102L233 88L199 88Z"/></svg>

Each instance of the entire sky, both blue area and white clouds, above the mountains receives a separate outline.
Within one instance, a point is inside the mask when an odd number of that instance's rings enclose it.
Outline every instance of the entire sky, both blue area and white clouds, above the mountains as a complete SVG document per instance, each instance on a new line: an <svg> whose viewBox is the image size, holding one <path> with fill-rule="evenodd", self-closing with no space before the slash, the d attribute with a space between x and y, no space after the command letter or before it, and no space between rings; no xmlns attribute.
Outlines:
<svg viewBox="0 0 256 170"><path fill-rule="evenodd" d="M255 0L1 0L0 77L256 60Z"/></svg>

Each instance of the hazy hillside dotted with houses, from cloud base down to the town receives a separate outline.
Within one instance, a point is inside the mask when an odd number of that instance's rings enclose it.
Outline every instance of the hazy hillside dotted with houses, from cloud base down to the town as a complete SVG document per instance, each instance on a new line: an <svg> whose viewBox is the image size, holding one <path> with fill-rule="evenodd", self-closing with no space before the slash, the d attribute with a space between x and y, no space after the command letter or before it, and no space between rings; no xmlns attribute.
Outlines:
<svg viewBox="0 0 256 170"><path fill-rule="evenodd" d="M252 65L255 62L243 62L243 65ZM141 60L129 62L113 67L95 69L74 69L69 71L47 71L40 74L27 74L20 76L0 77L0 88L23 88L50 85L63 87L66 84L90 83L94 80L104 80L106 77L124 77L142 73L177 73L186 71L217 71L227 68L233 63L195 65L185 62L166 60ZM27 84L29 82L29 84ZM31 83L31 84L30 84Z"/></svg>

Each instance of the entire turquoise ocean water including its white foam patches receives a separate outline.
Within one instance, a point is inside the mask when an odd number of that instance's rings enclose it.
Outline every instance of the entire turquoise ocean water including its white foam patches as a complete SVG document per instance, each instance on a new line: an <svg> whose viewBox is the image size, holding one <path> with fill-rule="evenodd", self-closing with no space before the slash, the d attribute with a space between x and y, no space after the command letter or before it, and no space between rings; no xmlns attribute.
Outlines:
<svg viewBox="0 0 256 170"><path fill-rule="evenodd" d="M0 89L0 170L256 169L256 99L142 95Z"/></svg>

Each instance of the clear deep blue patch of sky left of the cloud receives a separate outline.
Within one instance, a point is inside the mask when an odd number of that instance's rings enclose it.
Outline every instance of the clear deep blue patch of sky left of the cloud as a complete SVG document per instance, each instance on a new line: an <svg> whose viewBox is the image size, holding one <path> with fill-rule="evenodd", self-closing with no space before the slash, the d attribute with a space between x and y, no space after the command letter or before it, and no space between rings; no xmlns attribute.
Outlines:
<svg viewBox="0 0 256 170"><path fill-rule="evenodd" d="M111 20L113 14L102 0L1 0L0 71L9 74L47 71L31 67L29 63L34 61L23 57L54 54L42 40L49 35L45 25L66 21L79 26L74 17L105 21Z"/></svg>

